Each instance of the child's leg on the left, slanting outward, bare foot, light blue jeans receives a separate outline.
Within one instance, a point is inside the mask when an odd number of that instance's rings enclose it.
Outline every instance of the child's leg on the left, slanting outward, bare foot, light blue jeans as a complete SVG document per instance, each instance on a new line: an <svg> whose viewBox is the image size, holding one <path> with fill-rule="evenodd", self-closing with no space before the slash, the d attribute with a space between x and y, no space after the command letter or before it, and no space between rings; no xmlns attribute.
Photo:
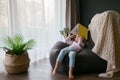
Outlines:
<svg viewBox="0 0 120 80"><path fill-rule="evenodd" d="M66 48L63 48L60 51L60 53L59 53L59 55L57 57L57 61L56 61L55 67L53 69L52 75L56 74L56 71L58 70L58 67L59 67L61 61L63 60L64 56L69 52L69 50L70 50L69 47L66 47Z"/></svg>

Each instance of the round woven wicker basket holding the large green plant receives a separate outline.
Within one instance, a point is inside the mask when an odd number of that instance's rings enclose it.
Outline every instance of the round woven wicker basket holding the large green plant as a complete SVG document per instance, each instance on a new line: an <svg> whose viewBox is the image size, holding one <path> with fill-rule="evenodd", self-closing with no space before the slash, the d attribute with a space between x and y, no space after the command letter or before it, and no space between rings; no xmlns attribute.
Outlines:
<svg viewBox="0 0 120 80"><path fill-rule="evenodd" d="M9 74L18 74L28 70L30 59L28 53L22 55L6 54L4 66Z"/></svg>

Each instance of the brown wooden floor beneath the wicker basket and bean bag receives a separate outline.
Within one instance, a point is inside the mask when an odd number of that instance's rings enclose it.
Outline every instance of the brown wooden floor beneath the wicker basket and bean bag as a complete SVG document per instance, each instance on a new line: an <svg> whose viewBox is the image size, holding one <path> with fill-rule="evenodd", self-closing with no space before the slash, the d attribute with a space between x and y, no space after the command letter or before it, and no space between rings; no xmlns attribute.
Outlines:
<svg viewBox="0 0 120 80"><path fill-rule="evenodd" d="M57 73L51 76L51 65L49 59L31 63L27 72L23 74L7 74L4 67L0 67L0 80L69 80L68 75ZM120 80L119 73L113 78L99 78L97 74L80 74L75 76L75 80Z"/></svg>

